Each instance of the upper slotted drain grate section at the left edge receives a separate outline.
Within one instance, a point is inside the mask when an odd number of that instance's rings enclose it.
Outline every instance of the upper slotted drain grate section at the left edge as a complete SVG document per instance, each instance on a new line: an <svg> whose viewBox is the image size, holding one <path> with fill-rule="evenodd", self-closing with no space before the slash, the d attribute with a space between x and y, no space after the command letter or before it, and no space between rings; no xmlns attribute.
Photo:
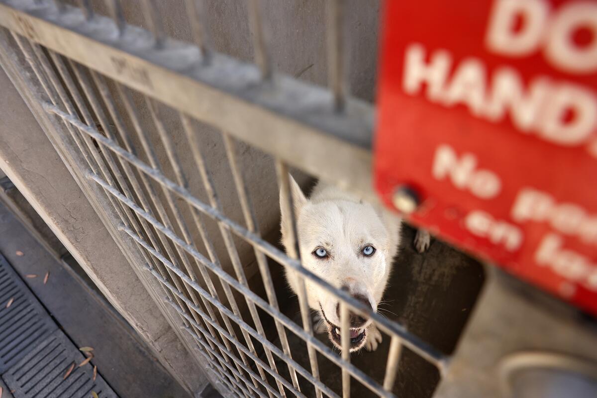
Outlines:
<svg viewBox="0 0 597 398"><path fill-rule="evenodd" d="M56 329L56 323L0 255L0 374Z"/></svg>

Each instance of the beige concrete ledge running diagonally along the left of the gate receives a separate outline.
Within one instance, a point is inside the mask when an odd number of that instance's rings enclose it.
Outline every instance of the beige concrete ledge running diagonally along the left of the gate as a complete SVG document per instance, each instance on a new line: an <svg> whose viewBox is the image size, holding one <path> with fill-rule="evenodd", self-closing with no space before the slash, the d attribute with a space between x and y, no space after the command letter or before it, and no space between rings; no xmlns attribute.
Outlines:
<svg viewBox="0 0 597 398"><path fill-rule="evenodd" d="M162 364L187 389L201 391L205 375L189 358L2 70L0 87L0 168Z"/></svg>

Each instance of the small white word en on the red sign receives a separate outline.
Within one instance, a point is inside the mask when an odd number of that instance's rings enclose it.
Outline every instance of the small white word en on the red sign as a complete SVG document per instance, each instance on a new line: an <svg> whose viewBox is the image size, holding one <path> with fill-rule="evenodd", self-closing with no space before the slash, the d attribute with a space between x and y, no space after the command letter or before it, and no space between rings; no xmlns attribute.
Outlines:
<svg viewBox="0 0 597 398"><path fill-rule="evenodd" d="M495 220L489 213L474 210L464 218L470 233L485 237L494 245L503 245L507 251L516 251L522 245L522 232L506 221Z"/></svg>

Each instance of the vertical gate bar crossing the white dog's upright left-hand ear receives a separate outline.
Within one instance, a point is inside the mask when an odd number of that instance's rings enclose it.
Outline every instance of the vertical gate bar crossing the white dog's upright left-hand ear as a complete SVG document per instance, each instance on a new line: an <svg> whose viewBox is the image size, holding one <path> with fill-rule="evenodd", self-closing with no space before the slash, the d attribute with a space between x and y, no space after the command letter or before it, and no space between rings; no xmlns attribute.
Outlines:
<svg viewBox="0 0 597 398"><path fill-rule="evenodd" d="M287 230L285 234L288 236L288 240L290 240L290 245L287 248L288 257L293 258L295 260L300 260L300 250L298 248L298 234L297 234L297 226L296 226L296 214L294 214L294 204L293 204L293 196L290 190L290 180L288 178L288 167L284 164L284 162L276 159L276 177L278 178L278 186L280 188L281 194L284 192L284 196L286 200L281 203L284 206L283 211L285 214L288 214L290 217L290 230ZM293 272L288 270L288 272ZM298 273L295 273L296 280L298 282L298 307L300 308L301 320L303 321L303 329L305 332L309 334L310 337L313 337L313 328L311 325L311 319L309 317L309 304L307 304L307 290L304 285L304 277ZM309 342L307 344L307 353L309 353L309 363L311 365L311 374L316 380L319 380L319 365L317 363L317 353L315 348ZM321 398L321 390L315 390L318 398Z"/></svg>

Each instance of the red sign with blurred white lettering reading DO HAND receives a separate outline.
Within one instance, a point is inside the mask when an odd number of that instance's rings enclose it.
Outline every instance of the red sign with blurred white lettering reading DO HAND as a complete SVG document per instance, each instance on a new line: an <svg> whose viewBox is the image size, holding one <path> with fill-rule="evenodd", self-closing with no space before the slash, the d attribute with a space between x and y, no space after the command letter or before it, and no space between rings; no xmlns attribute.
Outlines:
<svg viewBox="0 0 597 398"><path fill-rule="evenodd" d="M409 220L597 313L597 2L384 8L381 198L408 187Z"/></svg>

